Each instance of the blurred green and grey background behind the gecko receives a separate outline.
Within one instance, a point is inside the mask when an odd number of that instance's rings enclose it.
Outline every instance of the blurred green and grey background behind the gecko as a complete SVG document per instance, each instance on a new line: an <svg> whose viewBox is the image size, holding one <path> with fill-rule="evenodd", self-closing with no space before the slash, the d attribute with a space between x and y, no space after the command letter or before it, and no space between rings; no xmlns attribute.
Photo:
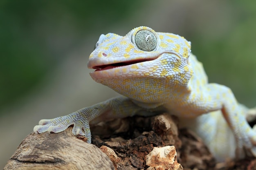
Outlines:
<svg viewBox="0 0 256 170"><path fill-rule="evenodd" d="M256 1L107 0L0 2L0 168L40 119L117 95L89 76L99 35L137 26L192 42L209 82L256 105Z"/></svg>

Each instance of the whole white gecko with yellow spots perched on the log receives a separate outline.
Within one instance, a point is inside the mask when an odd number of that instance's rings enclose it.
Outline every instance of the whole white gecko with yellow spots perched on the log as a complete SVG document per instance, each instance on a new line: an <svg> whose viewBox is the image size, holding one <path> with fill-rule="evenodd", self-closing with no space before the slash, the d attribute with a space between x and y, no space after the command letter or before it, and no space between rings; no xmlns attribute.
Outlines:
<svg viewBox="0 0 256 170"><path fill-rule="evenodd" d="M191 53L191 42L184 37L146 26L125 36L102 34L88 68L95 69L92 79L122 96L42 119L34 132L58 133L74 125L72 133L91 143L89 123L168 112L178 117L180 127L200 136L217 161L256 157L256 130L247 122L256 109L238 103L227 86L209 83L202 63Z"/></svg>

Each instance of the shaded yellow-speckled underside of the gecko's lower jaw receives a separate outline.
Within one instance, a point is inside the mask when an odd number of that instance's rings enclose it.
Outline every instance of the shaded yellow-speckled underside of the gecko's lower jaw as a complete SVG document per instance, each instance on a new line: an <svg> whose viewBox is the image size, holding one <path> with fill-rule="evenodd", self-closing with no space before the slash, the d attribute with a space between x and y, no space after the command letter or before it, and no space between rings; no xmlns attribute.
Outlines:
<svg viewBox="0 0 256 170"><path fill-rule="evenodd" d="M118 69L118 68L113 68ZM90 73L92 79L96 82L99 82L105 86L112 88L117 93L129 97L130 99L134 99L138 102L143 103L162 103L166 100L169 100L172 97L172 87L162 88L168 85L168 82L163 81L162 79L154 79L150 78L150 76L146 75L106 75L111 74L112 70L103 70L103 71L95 71ZM104 73L105 71L109 71L108 73ZM117 72L115 74L118 74ZM143 92L141 95L137 89L141 89L140 92ZM159 93L156 93L159 91Z"/></svg>

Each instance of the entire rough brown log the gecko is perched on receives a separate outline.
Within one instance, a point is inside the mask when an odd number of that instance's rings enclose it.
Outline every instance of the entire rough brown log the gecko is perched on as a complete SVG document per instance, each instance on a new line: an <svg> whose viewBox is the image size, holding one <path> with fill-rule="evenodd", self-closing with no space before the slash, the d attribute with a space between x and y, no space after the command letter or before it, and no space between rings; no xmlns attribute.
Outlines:
<svg viewBox="0 0 256 170"><path fill-rule="evenodd" d="M168 165L160 163L168 162L168 158L175 164L166 170L256 170L256 159L216 164L200 138L189 130L179 130L177 124L178 120L168 114L101 122L91 126L94 145L74 137L72 127L58 134L31 133L4 170L155 170L159 167L152 165ZM165 157L157 156L162 151L151 152L164 146L175 146L177 156L168 156L171 151L164 151ZM158 163L147 163L148 157Z"/></svg>

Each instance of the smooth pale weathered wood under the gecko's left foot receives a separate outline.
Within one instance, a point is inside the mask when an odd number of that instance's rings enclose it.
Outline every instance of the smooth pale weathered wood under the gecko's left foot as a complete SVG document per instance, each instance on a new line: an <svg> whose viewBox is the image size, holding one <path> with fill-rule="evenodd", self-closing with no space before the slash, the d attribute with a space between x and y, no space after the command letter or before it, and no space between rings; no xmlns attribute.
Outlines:
<svg viewBox="0 0 256 170"><path fill-rule="evenodd" d="M109 157L72 135L72 127L57 134L28 135L4 170L114 170Z"/></svg>

